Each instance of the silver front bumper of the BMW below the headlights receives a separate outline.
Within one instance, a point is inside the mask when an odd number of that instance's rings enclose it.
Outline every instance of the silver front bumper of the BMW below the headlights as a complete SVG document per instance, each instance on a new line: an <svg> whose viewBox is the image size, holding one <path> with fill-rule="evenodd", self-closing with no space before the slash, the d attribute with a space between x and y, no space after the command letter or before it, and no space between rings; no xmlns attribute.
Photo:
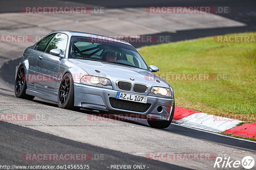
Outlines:
<svg viewBox="0 0 256 170"><path fill-rule="evenodd" d="M118 113L142 114L142 115L146 115L146 117L162 119L162 120L169 120L171 116L170 113L173 107L174 99L144 95L148 97L147 103L150 104L150 107L148 107L145 111L134 111L134 110L132 111L132 108L129 110L115 108L113 107L113 103L111 106L109 98L112 98L112 99L116 98L117 92L118 91L113 89L74 83L74 93L75 93L74 106L78 106L85 109L91 109L91 110L108 111L112 114L115 114L115 113L116 114ZM121 99L116 99L116 100L117 102L119 100L120 102L125 102L125 100L121 100ZM161 109L159 109L159 107Z"/></svg>

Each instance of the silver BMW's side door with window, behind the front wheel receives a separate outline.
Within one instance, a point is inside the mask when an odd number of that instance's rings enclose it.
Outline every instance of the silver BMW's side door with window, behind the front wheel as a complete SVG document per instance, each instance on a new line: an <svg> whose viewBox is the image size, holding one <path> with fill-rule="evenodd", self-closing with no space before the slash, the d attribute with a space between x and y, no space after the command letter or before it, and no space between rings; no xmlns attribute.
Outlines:
<svg viewBox="0 0 256 170"><path fill-rule="evenodd" d="M60 75L59 67L64 58L68 42L68 36L64 33L57 33L48 44L44 53L36 62L36 77L39 77L35 82L36 89L44 90L53 94L58 94L59 88L56 88L56 82ZM59 49L60 56L50 54L52 49Z"/></svg>

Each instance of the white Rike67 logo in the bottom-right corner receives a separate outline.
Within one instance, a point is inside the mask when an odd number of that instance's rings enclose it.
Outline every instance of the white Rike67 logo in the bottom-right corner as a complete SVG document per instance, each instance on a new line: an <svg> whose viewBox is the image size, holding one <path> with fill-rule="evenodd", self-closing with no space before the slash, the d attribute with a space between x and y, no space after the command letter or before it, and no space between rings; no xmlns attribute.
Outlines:
<svg viewBox="0 0 256 170"><path fill-rule="evenodd" d="M243 166L245 169L251 169L254 166L254 159L251 156L245 156L241 161L232 160L229 157L217 157L214 163L214 168L238 168Z"/></svg>

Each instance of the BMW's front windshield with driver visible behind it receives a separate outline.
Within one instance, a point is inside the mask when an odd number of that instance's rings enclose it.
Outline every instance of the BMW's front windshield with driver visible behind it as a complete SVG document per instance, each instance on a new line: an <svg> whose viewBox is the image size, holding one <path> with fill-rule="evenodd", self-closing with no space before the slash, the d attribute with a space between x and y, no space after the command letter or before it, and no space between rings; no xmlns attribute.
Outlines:
<svg viewBox="0 0 256 170"><path fill-rule="evenodd" d="M99 60L148 70L147 64L132 46L119 42L72 36L69 51L70 59Z"/></svg>

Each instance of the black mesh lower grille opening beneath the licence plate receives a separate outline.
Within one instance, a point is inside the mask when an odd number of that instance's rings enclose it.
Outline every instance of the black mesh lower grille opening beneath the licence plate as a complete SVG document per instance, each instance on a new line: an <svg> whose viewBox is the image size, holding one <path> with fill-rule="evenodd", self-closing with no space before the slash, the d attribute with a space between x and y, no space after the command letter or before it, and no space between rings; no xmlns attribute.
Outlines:
<svg viewBox="0 0 256 170"><path fill-rule="evenodd" d="M111 107L116 109L124 109L124 110L131 110L137 112L145 112L151 106L150 103L138 103L138 102L131 102L122 99L116 99L114 97L109 97L109 102Z"/></svg>

